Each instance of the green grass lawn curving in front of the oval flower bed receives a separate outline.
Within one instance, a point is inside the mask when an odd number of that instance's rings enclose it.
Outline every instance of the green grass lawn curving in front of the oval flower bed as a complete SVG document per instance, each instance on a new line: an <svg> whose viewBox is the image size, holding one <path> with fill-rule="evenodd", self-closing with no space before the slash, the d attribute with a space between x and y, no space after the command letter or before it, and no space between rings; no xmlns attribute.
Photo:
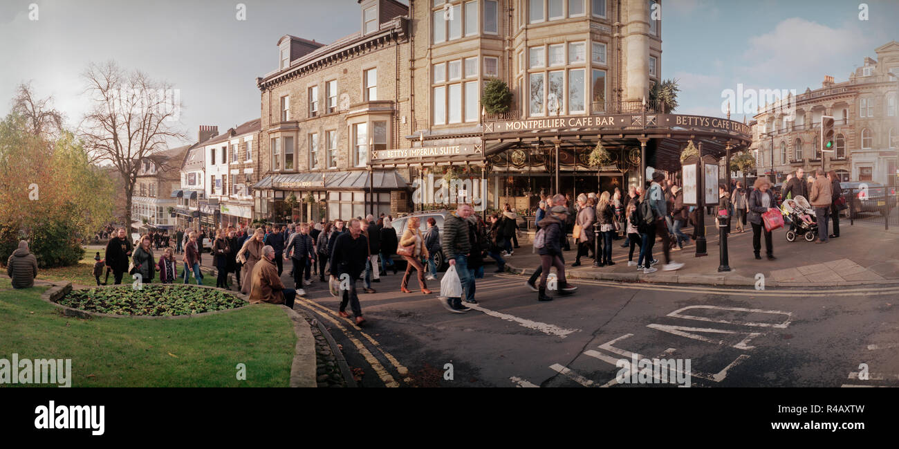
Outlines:
<svg viewBox="0 0 899 449"><path fill-rule="evenodd" d="M289 386L297 337L281 306L191 319L76 319L40 301L45 288L13 290L0 280L0 358L72 359L73 387ZM245 381L236 364L245 364Z"/></svg>

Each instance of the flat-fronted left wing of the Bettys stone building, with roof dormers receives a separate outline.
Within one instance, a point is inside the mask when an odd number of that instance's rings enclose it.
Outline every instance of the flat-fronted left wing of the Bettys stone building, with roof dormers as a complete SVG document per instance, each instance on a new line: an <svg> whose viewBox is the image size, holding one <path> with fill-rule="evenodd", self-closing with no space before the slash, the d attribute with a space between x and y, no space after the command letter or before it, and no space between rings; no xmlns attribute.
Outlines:
<svg viewBox="0 0 899 449"><path fill-rule="evenodd" d="M360 31L332 44L285 35L262 92L254 218L350 219L408 210L408 173L370 165L409 112L407 7L360 2Z"/></svg>

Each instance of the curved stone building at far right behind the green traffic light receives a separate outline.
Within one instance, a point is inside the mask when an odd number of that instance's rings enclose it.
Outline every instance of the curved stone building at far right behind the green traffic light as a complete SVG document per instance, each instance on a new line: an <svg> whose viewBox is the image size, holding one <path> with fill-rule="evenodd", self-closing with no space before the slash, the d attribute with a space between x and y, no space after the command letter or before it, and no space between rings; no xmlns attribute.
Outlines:
<svg viewBox="0 0 899 449"><path fill-rule="evenodd" d="M821 88L766 105L755 115L752 150L759 175L775 183L802 167L822 166L841 181L895 185L899 43L878 47L849 80L825 76ZM891 75L893 74L893 75ZM895 75L895 76L894 76ZM822 116L834 118L835 150L821 151Z"/></svg>

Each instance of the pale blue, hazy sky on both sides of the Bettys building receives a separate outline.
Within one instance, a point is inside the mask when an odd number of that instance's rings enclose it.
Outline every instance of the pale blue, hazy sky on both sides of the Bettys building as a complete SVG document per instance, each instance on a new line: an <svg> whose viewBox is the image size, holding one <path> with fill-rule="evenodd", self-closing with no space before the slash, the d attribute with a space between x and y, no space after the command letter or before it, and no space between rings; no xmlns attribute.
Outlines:
<svg viewBox="0 0 899 449"><path fill-rule="evenodd" d="M30 1L0 3L0 113L15 85L32 80L52 94L68 125L81 120L79 75L89 61L115 59L181 91L182 128L221 131L258 117L255 77L277 67L276 43L294 34L325 43L360 28L356 0ZM236 4L246 6L245 22ZM664 78L681 81L677 112L723 115L725 89L818 87L825 75L846 80L874 49L899 40L899 2L797 0L663 1ZM735 111L732 118L742 120Z"/></svg>

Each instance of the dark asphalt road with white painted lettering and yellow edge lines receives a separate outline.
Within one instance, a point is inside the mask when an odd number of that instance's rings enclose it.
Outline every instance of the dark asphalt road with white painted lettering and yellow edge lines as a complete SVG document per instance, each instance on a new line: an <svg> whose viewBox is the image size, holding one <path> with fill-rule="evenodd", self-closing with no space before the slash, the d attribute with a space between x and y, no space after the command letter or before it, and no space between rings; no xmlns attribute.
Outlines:
<svg viewBox="0 0 899 449"><path fill-rule="evenodd" d="M360 294L363 328L337 316L339 299L321 283L296 306L325 323L360 386L670 387L660 381L684 384L686 373L693 387L899 386L899 285L760 292L580 281L574 295L538 302L523 277L487 274L477 309L456 314L438 302L439 282L431 295L401 293L401 277ZM292 284L289 266L284 280ZM670 377L654 379L644 358L671 361Z"/></svg>

